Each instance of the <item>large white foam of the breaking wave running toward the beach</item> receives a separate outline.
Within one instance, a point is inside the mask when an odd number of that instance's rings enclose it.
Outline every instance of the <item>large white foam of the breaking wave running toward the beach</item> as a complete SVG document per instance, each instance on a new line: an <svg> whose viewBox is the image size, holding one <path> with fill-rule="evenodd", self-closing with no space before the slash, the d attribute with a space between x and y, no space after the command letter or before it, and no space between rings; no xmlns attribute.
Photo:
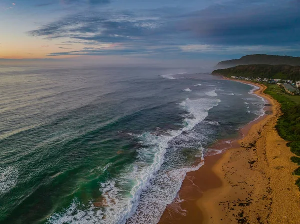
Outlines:
<svg viewBox="0 0 300 224"><path fill-rule="evenodd" d="M181 130L167 131L168 135L159 136L150 132L131 134L144 147L137 150L137 160L128 165L121 176L100 183L102 204L105 206L95 209L91 202L83 206L74 199L64 212L53 214L48 224L156 224L167 204L176 197L186 173L204 164L203 148L199 148L198 156L202 162L197 166L161 171L169 142L181 136L182 132L192 130L218 102L220 100L211 98L186 99L180 105L192 116L184 119L185 125ZM150 182L153 178L155 184Z"/></svg>

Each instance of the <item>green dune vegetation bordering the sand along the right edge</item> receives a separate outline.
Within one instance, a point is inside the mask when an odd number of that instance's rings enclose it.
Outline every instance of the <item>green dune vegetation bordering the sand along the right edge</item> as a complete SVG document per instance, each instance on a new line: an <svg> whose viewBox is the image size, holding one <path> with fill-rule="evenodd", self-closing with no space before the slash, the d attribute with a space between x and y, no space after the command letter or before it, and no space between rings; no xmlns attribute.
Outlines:
<svg viewBox="0 0 300 224"><path fill-rule="evenodd" d="M287 146L296 155L291 161L300 165L300 96L291 96L273 84L267 84L266 94L272 96L281 104L282 116L278 119L276 129L279 135L290 141ZM294 175L300 175L300 167L294 170ZM300 188L300 178L296 181Z"/></svg>

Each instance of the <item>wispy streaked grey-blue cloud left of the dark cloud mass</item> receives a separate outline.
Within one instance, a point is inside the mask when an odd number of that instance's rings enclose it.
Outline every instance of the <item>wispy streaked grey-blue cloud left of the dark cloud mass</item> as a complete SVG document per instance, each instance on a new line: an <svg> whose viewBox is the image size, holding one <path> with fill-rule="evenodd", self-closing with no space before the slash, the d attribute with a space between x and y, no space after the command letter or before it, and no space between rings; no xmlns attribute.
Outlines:
<svg viewBox="0 0 300 224"><path fill-rule="evenodd" d="M76 14L42 26L29 35L47 39L69 37L73 41L132 42L145 37L161 35L163 18L138 15L131 12L102 11ZM167 34L167 33L166 33Z"/></svg>

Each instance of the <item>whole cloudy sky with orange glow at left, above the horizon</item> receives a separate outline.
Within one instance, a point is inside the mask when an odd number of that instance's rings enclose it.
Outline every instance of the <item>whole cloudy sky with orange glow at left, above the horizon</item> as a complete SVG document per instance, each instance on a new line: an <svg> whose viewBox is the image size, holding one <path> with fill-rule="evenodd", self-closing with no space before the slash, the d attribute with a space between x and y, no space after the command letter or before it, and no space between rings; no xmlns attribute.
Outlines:
<svg viewBox="0 0 300 224"><path fill-rule="evenodd" d="M0 0L0 59L300 56L300 0Z"/></svg>

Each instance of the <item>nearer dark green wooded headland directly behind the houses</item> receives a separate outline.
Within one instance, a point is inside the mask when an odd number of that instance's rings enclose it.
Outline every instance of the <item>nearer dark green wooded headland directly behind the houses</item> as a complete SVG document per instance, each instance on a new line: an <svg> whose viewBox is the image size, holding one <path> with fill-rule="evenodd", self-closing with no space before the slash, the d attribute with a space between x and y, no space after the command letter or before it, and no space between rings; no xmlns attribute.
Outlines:
<svg viewBox="0 0 300 224"><path fill-rule="evenodd" d="M245 78L300 80L300 66L266 64L238 65L232 68L214 70L212 74L220 74L227 77L242 76Z"/></svg>

